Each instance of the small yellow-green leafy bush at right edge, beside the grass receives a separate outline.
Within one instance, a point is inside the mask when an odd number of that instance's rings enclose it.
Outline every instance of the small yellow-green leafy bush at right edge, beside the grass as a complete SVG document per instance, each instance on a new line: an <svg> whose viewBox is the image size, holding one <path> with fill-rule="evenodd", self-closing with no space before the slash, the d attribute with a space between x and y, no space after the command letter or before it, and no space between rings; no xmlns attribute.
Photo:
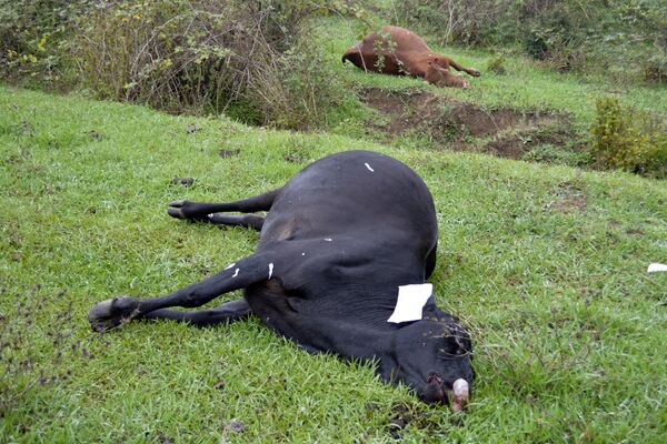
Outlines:
<svg viewBox="0 0 667 444"><path fill-rule="evenodd" d="M667 178L667 135L663 127L644 112L623 108L616 98L599 99L590 130L593 155L601 168Z"/></svg>

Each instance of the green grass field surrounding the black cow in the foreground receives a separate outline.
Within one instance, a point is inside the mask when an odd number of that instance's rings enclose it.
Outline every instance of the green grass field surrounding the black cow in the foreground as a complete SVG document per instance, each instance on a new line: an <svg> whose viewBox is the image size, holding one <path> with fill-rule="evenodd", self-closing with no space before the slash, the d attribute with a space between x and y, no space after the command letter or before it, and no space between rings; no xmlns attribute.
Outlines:
<svg viewBox="0 0 667 444"><path fill-rule="evenodd" d="M248 196L361 148L405 161L434 193L431 281L475 342L465 414L381 384L368 364L308 355L257 321L89 330L100 300L159 295L253 250L257 233L175 221L166 202ZM176 175L196 182L172 185ZM406 442L667 433L667 273L646 273L667 261L666 182L0 87L0 442L392 442L399 416L412 417Z"/></svg>

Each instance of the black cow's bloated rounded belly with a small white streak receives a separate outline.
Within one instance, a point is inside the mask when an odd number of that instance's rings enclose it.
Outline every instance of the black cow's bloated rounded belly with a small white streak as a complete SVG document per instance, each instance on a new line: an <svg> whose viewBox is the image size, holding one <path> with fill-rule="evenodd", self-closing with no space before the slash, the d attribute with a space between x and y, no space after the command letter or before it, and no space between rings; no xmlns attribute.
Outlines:
<svg viewBox="0 0 667 444"><path fill-rule="evenodd" d="M348 151L313 162L282 188L259 250L279 240L356 231L377 242L405 238L406 248L428 250L437 230L432 196L417 173L380 153Z"/></svg>

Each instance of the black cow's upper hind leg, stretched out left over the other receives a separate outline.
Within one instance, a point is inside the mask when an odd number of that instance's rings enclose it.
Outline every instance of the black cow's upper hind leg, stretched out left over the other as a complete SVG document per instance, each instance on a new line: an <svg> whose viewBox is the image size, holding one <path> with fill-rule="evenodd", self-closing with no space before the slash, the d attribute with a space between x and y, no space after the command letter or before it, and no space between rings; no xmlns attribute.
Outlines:
<svg viewBox="0 0 667 444"><path fill-rule="evenodd" d="M209 214L220 212L238 211L241 213L253 213L256 211L269 211L279 192L280 189L240 201L223 203L176 201L169 203L167 213L177 219L205 221L209 219Z"/></svg>

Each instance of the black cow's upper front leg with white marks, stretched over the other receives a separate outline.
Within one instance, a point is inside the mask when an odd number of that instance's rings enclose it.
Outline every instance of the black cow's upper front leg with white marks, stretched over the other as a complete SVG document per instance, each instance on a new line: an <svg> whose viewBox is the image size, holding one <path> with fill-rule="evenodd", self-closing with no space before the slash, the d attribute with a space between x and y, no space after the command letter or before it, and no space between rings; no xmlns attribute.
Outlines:
<svg viewBox="0 0 667 444"><path fill-rule="evenodd" d="M161 297L122 296L102 301L90 310L88 320L93 330L103 332L132 319L143 317L156 310L169 306L200 306L222 293L245 289L269 279L272 269L270 258L266 254L253 254L203 281Z"/></svg>

